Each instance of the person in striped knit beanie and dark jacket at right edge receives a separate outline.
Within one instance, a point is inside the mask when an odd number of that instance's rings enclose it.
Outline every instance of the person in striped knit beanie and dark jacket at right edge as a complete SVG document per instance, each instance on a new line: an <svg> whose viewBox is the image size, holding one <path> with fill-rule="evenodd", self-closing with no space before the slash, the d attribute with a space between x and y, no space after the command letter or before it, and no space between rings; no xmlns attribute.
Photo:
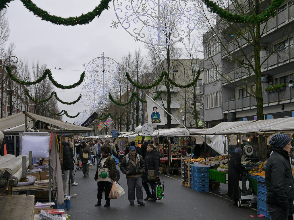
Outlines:
<svg viewBox="0 0 294 220"><path fill-rule="evenodd" d="M273 136L269 144L273 146L265 167L266 204L270 219L293 219L294 182L292 176L290 150L291 139L284 134Z"/></svg>

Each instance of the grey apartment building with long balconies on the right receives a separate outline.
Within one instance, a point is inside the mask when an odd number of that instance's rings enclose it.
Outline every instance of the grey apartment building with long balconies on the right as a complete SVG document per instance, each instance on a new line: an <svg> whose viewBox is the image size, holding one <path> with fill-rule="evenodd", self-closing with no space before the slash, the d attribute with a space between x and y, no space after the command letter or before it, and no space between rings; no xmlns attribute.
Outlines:
<svg viewBox="0 0 294 220"><path fill-rule="evenodd" d="M219 19L219 18L217 18ZM277 15L261 24L261 86L265 119L294 116L294 1L285 1ZM224 121L256 120L254 48L244 39L236 39L230 26L217 22L203 35L204 116L206 127ZM243 33L250 38L248 32ZM231 40L230 40L231 37ZM229 39L229 40L228 40ZM234 42L235 39L235 43ZM232 60L238 57L239 62ZM233 82L234 84L231 84ZM286 86L266 91L271 85ZM251 92L251 95L250 95Z"/></svg>

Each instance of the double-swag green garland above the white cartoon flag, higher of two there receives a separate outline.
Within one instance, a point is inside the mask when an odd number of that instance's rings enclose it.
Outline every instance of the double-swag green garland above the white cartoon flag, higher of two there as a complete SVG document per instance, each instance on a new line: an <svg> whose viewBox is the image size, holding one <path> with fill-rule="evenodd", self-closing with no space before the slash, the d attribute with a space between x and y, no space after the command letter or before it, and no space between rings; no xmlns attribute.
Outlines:
<svg viewBox="0 0 294 220"><path fill-rule="evenodd" d="M137 84L136 82L134 82L130 75L128 74L128 72L126 72L126 78L127 80L136 88L139 88L139 89L151 89L155 86L157 86L163 79L163 77L166 77L166 79L168 80L168 82L170 82L171 84L173 84L174 86L176 87L180 87L180 88L189 88L191 86L193 86L199 79L199 76L200 76L200 70L197 71L197 75L195 77L195 79L193 79L192 82L190 82L189 84L186 84L186 85L180 85L180 84L177 84L176 82L174 82L169 76L168 76L168 73L166 71L162 72L159 79L157 79L153 84L149 85L149 86L142 86L142 85L139 85ZM140 100L140 99L139 99ZM141 100L140 100L141 101Z"/></svg>

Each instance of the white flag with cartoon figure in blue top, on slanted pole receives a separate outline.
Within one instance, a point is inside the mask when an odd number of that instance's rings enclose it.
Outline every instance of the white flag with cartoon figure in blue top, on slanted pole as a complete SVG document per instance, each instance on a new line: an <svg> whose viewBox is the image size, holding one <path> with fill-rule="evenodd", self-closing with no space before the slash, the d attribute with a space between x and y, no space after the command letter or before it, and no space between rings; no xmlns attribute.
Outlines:
<svg viewBox="0 0 294 220"><path fill-rule="evenodd" d="M164 109L156 101L146 95L147 101L147 116L148 125L164 125L166 124L166 118L164 116Z"/></svg>

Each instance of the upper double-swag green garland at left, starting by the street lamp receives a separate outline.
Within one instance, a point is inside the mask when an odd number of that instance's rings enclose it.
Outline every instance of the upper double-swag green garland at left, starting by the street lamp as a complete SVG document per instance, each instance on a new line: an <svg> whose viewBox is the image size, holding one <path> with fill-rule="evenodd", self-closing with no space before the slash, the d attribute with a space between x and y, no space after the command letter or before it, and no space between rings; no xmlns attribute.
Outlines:
<svg viewBox="0 0 294 220"><path fill-rule="evenodd" d="M76 82L76 83L74 83L74 84L72 84L72 85L69 85L69 86L64 86L64 85L61 85L61 84L59 84L58 82L56 82L56 81L53 79L53 77L52 77L52 73L51 73L51 71L50 71L49 69L47 69L47 70L45 70L45 72L43 73L43 75L42 75L39 79L37 79L37 80L35 80L35 81L33 81L33 82L24 82L24 81L21 81L21 80L17 79L17 78L12 74L12 72L11 72L11 68L10 68L9 66L5 66L5 68L6 68L7 75L9 75L9 77L10 77L13 81L15 81L15 82L17 82L17 83L19 83L19 84L22 84L22 85L35 85L35 84L41 82L43 79L45 79L46 76L48 75L48 78L50 79L50 81L52 82L52 84L53 84L55 87L57 87L57 88L59 88L59 89L72 89L72 88L75 88L75 87L81 85L81 83L84 81L84 77L85 77L85 72L82 72L82 74L81 74L81 76L80 76L80 80L79 80L78 82Z"/></svg>

